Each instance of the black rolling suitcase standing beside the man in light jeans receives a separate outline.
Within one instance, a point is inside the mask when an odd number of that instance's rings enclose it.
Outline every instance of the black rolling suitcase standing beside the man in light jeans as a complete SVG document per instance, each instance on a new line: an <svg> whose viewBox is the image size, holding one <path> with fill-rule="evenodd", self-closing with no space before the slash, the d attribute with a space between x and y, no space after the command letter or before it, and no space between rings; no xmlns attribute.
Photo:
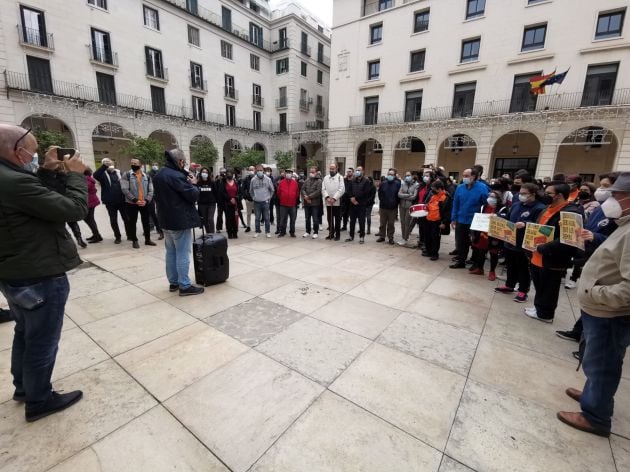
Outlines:
<svg viewBox="0 0 630 472"><path fill-rule="evenodd" d="M226 237L202 232L201 237L193 241L193 262L197 285L207 287L225 282L230 276Z"/></svg>

